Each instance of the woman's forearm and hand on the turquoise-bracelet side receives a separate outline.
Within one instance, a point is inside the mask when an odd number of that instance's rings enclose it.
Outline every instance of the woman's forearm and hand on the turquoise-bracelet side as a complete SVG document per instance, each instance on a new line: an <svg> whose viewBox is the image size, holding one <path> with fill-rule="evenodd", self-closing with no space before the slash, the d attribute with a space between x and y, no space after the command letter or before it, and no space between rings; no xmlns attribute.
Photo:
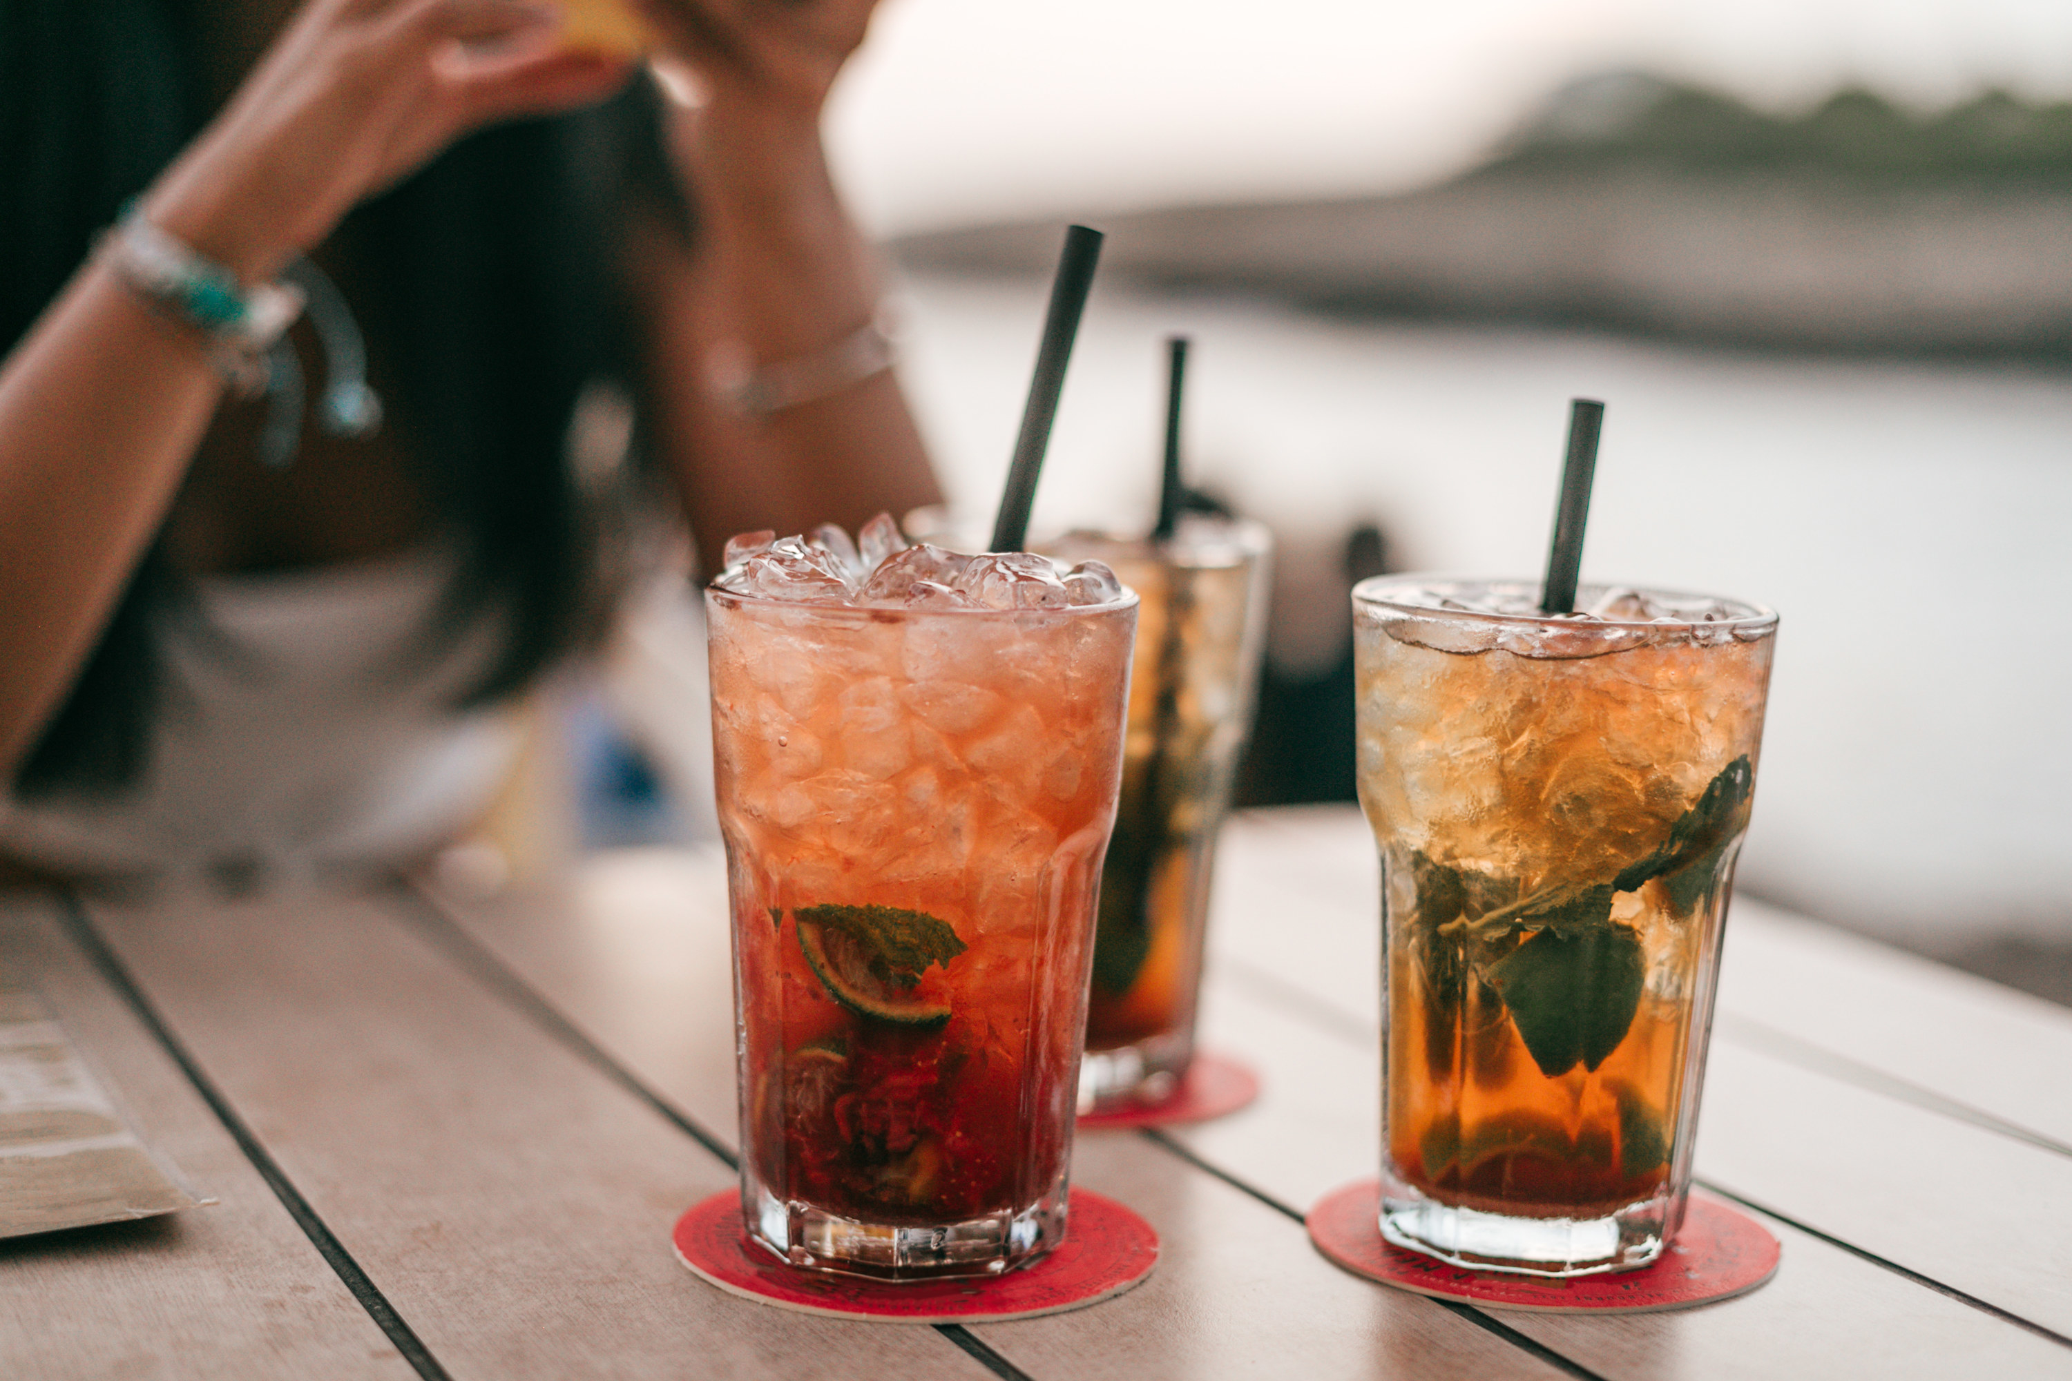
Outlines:
<svg viewBox="0 0 2072 1381"><path fill-rule="evenodd" d="M244 284L460 133L607 95L514 0L315 0L143 197ZM89 261L0 360L0 781L64 698L222 398L207 337Z"/></svg>

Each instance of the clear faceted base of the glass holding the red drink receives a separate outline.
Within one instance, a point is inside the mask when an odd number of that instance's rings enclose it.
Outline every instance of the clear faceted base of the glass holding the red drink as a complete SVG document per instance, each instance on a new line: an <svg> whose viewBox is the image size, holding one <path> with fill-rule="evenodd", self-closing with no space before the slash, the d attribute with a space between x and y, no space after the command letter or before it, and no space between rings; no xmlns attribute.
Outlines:
<svg viewBox="0 0 2072 1381"><path fill-rule="evenodd" d="M1065 1238L1065 1182L1019 1213L955 1224L868 1224L810 1203L783 1201L756 1176L742 1176L748 1236L808 1271L870 1280L1001 1275Z"/></svg>

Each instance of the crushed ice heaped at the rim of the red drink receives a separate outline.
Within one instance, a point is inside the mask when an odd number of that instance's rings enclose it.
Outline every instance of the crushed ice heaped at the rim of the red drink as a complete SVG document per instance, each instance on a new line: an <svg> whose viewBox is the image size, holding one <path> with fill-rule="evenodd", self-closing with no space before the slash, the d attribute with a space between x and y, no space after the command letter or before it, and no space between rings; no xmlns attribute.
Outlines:
<svg viewBox="0 0 2072 1381"><path fill-rule="evenodd" d="M1028 551L968 557L928 542L910 547L889 513L866 522L858 540L835 524L821 524L810 536L744 532L727 542L725 569L713 586L866 609L1061 609L1123 596L1123 584L1100 561L1061 569Z"/></svg>

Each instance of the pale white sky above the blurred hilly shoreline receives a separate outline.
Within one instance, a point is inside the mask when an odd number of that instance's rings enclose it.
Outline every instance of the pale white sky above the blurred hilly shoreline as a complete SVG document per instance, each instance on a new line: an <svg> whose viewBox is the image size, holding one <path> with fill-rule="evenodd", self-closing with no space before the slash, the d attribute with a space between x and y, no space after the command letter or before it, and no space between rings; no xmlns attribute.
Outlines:
<svg viewBox="0 0 2072 1381"><path fill-rule="evenodd" d="M1767 104L2062 95L2072 0L885 0L833 141L876 232L1374 190L1608 66Z"/></svg>

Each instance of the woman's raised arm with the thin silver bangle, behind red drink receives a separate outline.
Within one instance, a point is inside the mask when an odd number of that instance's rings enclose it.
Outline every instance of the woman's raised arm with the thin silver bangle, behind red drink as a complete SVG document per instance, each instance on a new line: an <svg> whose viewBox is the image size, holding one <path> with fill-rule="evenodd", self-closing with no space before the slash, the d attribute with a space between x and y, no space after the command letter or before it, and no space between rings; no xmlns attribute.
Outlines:
<svg viewBox="0 0 2072 1381"><path fill-rule="evenodd" d="M671 130L700 242L638 236L651 284L655 433L707 567L736 532L806 532L934 503L891 371L752 416L721 398L713 352L752 369L823 356L868 325L881 284L841 209L821 110L874 0L649 0L702 87Z"/></svg>

